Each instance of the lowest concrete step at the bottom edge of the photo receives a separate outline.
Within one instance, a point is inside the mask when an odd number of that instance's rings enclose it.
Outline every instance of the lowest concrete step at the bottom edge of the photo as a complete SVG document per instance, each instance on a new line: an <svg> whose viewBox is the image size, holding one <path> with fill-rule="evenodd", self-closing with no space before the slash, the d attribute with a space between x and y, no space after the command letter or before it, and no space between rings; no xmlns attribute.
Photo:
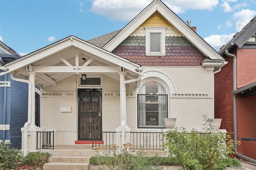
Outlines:
<svg viewBox="0 0 256 170"><path fill-rule="evenodd" d="M44 164L43 170L89 170L90 163L77 162L49 162Z"/></svg>

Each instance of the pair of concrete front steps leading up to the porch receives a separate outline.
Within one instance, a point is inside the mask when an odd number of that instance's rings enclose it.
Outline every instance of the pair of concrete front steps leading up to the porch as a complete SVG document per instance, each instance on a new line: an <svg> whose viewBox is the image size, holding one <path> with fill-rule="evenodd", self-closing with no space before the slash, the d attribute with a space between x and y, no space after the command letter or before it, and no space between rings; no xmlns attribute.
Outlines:
<svg viewBox="0 0 256 170"><path fill-rule="evenodd" d="M90 157L51 156L43 170L89 170Z"/></svg>

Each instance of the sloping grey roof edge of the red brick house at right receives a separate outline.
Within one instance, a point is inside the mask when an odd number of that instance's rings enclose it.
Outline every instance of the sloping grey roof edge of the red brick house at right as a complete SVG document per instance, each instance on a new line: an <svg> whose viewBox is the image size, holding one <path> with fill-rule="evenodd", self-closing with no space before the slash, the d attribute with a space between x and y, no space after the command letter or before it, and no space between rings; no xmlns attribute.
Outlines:
<svg viewBox="0 0 256 170"><path fill-rule="evenodd" d="M240 32L237 32L232 40L226 43L226 45L223 45L218 53L224 56L226 49L233 49L236 46L241 48L254 34L256 34L256 16Z"/></svg>

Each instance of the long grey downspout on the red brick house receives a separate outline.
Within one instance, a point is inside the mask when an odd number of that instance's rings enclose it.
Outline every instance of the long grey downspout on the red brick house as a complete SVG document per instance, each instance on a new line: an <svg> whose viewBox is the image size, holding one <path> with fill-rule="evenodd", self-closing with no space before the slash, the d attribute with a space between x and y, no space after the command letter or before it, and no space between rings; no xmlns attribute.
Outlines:
<svg viewBox="0 0 256 170"><path fill-rule="evenodd" d="M225 50L225 54L228 56L228 57L232 57L233 58L233 91L236 90L236 55L232 54L232 53L229 53L228 52L228 49ZM235 140L235 154L236 156L239 156L240 158L243 158L245 160L248 160L249 162L253 162L254 164L256 164L256 160L252 159L252 158L249 158L247 156L244 156L240 153L238 153L237 151L237 110L236 110L236 95L233 95L233 110L234 110L234 113L233 113L233 116L234 116L234 140Z"/></svg>

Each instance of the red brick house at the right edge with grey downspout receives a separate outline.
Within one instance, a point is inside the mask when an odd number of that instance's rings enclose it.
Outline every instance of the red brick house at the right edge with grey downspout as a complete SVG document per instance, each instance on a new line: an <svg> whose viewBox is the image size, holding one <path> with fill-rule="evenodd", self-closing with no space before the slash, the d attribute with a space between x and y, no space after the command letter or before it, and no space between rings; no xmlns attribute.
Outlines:
<svg viewBox="0 0 256 170"><path fill-rule="evenodd" d="M219 53L228 64L215 74L215 117L241 142L236 155L256 163L256 16Z"/></svg>

